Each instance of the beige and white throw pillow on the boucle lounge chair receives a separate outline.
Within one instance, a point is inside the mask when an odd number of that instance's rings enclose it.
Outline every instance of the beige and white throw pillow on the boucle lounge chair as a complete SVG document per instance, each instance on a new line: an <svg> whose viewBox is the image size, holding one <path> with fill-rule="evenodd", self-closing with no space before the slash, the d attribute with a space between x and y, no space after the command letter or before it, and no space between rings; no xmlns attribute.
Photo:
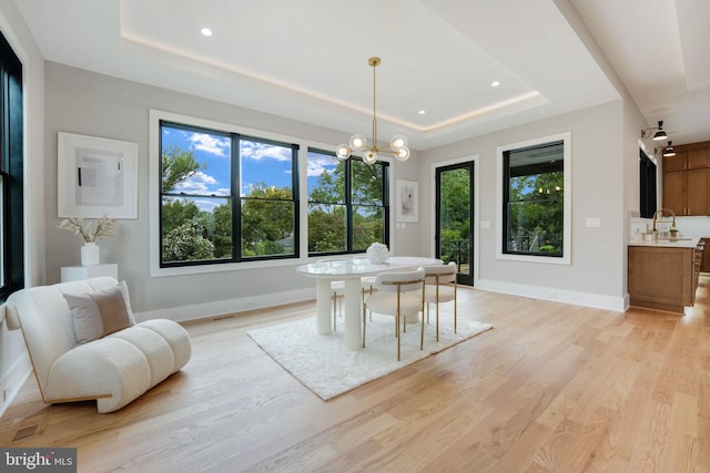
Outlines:
<svg viewBox="0 0 710 473"><path fill-rule="evenodd" d="M125 281L82 295L65 294L74 322L77 343L82 345L135 323Z"/></svg>

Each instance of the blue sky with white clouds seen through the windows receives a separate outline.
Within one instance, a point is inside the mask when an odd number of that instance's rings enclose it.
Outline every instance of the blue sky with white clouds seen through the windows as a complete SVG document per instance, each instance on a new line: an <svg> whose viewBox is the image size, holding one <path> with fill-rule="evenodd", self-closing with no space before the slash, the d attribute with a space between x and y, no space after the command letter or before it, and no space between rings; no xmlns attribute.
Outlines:
<svg viewBox="0 0 710 473"><path fill-rule="evenodd" d="M180 184L176 191L185 194L229 195L230 194L230 138L219 134L194 133L163 127L163 148L178 146L194 152L195 160L205 168ZM242 142L241 194L250 193L257 183L268 186L291 187L291 148L277 145ZM324 172L333 169L336 161L326 155L311 153L307 163L308 187ZM201 208L210 209L214 203L197 200Z"/></svg>

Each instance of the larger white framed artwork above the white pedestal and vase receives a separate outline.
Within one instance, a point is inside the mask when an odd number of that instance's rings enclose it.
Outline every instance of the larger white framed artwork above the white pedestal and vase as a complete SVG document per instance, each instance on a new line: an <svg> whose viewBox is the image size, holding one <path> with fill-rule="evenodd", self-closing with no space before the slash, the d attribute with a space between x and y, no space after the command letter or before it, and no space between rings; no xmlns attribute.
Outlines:
<svg viewBox="0 0 710 473"><path fill-rule="evenodd" d="M138 143L58 133L58 217L138 218Z"/></svg>

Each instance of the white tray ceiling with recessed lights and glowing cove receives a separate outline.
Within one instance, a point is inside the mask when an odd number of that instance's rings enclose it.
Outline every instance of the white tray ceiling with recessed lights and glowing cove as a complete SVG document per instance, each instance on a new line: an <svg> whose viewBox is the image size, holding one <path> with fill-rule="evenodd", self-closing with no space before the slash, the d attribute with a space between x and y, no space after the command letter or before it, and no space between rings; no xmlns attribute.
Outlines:
<svg viewBox="0 0 710 473"><path fill-rule="evenodd" d="M707 0L16 3L47 60L345 135L372 135L381 56L379 138L416 150L617 100L590 32L649 124L665 120L673 144L710 140Z"/></svg>

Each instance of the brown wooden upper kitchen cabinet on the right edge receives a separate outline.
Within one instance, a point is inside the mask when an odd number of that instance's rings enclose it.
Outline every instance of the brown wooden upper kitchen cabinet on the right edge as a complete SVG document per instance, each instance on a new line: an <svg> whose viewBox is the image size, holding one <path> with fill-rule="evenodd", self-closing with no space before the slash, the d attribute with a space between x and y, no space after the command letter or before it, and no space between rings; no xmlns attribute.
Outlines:
<svg viewBox="0 0 710 473"><path fill-rule="evenodd" d="M710 215L710 142L679 145L663 157L663 207L676 215Z"/></svg>

